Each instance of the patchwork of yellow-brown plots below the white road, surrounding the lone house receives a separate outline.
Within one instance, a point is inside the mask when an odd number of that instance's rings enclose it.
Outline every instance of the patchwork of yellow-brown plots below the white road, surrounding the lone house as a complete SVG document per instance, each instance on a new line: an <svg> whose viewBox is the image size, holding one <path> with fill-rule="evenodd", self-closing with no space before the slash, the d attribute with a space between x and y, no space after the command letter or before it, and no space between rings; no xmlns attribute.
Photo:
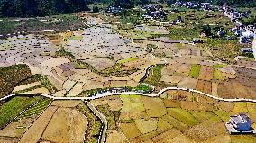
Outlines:
<svg viewBox="0 0 256 143"><path fill-rule="evenodd" d="M109 108L109 105L113 106L111 102L113 100L115 103L122 102L121 109L116 108L117 112ZM254 143L256 141L253 135L230 135L224 125L231 115L241 112L256 121L254 113L256 103L221 102L186 91L169 91L154 98L125 94L116 98L95 100L93 103L96 103L98 109L103 110L105 107L104 109L108 111L104 114L111 125L106 140L113 139L113 134L123 132L126 141L134 143ZM111 127L115 124L118 128ZM256 124L252 126L255 128Z"/></svg>

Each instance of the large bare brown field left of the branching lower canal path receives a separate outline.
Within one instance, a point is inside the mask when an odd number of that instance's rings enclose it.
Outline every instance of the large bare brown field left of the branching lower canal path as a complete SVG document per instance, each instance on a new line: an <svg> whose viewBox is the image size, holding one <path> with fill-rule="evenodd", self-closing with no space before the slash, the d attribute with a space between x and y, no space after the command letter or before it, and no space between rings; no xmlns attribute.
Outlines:
<svg viewBox="0 0 256 143"><path fill-rule="evenodd" d="M58 108L41 139L51 142L83 142L87 118L77 109Z"/></svg>

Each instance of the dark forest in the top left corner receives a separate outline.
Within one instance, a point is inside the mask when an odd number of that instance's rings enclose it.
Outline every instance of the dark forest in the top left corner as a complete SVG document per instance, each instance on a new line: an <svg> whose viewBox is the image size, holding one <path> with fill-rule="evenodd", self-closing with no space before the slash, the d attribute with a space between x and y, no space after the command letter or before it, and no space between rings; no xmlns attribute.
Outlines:
<svg viewBox="0 0 256 143"><path fill-rule="evenodd" d="M32 17L88 10L86 0L0 0L0 17Z"/></svg>

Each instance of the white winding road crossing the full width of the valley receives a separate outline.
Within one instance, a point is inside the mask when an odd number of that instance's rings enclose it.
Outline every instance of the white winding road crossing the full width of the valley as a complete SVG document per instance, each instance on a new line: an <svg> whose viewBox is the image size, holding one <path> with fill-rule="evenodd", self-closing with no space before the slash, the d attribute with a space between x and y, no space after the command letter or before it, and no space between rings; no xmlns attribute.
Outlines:
<svg viewBox="0 0 256 143"><path fill-rule="evenodd" d="M87 100L87 101L98 99L98 98L103 98L103 97L106 97L106 96L120 95L120 94L138 94L138 95L142 95L142 96L158 97L158 96L160 96L160 94L163 94L164 92L166 92L168 90L183 90L183 91L188 91L188 92L194 92L194 93L203 94L207 97L214 98L216 100L220 100L220 101L224 101L224 102L252 102L252 103L256 103L256 100L253 100L253 99L246 99L246 98L226 99L226 98L216 97L216 96L211 95L211 94L206 94L206 93L194 90L194 89L178 88L178 87L167 87L167 88L164 88L164 89L160 90L160 92L157 93L157 94L142 94L142 93L136 93L136 92L123 92L123 93L96 94L96 96L93 96L93 97L55 97L55 96L51 96L49 94L30 94L30 93L23 94L22 93L22 94L7 95L7 96L1 98L0 101L6 100L6 99L14 97L14 96L22 96L22 95L24 95L24 96L25 95L40 95L40 96L44 96L46 98L50 98L50 99L53 99L53 100Z"/></svg>

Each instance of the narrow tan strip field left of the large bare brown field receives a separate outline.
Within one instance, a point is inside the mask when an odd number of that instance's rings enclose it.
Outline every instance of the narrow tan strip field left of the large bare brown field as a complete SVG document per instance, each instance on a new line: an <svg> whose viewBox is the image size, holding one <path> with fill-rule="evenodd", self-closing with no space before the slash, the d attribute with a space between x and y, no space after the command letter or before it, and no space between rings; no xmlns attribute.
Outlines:
<svg viewBox="0 0 256 143"><path fill-rule="evenodd" d="M37 142L41 138L41 135L48 125L51 117L53 116L54 112L56 112L57 107L49 106L41 116L34 121L32 126L27 130L23 137L21 138L21 143L28 143L28 142Z"/></svg>

